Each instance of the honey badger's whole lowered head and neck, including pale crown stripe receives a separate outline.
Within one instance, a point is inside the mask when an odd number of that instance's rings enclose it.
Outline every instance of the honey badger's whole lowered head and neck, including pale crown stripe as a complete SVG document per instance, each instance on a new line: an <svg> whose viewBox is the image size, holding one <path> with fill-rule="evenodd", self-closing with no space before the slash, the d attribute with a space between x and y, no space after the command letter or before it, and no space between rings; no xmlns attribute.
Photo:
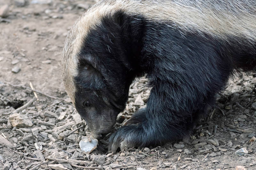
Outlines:
<svg viewBox="0 0 256 170"><path fill-rule="evenodd" d="M140 37L139 20L130 22L131 17L121 11L106 11L94 6L78 18L62 52L66 91L95 138L110 132L116 116L124 110L136 76L127 58L132 56L136 62L140 48L134 39Z"/></svg>

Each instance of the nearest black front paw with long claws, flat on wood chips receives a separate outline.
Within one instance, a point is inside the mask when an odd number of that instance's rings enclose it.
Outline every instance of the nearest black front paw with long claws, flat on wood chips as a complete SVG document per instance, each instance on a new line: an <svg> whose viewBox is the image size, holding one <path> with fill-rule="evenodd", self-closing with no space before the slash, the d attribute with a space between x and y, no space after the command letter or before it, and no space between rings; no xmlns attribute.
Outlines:
<svg viewBox="0 0 256 170"><path fill-rule="evenodd" d="M136 125L127 125L119 128L109 138L108 150L116 152L122 141L128 148L144 147L163 144L168 140L176 140L188 134L185 126L174 126L171 124L158 124L149 120Z"/></svg>

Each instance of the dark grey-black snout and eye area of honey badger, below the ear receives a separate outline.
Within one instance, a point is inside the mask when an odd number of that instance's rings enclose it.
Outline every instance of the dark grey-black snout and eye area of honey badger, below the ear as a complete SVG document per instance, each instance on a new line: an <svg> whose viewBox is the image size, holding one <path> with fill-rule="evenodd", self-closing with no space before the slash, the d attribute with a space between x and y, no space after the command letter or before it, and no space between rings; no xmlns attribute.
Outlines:
<svg viewBox="0 0 256 170"><path fill-rule="evenodd" d="M77 80L83 81L80 78ZM101 139L112 131L116 116L121 110L110 104L114 101L111 101L111 92L109 91L102 92L78 86L76 90L75 107L77 112L86 121L93 137ZM104 97L107 94L109 97Z"/></svg>

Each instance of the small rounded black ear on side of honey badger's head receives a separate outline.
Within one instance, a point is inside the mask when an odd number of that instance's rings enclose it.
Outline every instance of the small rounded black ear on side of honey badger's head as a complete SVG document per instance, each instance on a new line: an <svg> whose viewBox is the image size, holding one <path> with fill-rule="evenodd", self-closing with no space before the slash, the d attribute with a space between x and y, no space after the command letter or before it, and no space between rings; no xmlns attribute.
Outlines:
<svg viewBox="0 0 256 170"><path fill-rule="evenodd" d="M103 79L104 77L100 74L98 70L92 67L88 63L79 64L78 76L76 77L76 83L81 88L88 89L102 89L106 87Z"/></svg>

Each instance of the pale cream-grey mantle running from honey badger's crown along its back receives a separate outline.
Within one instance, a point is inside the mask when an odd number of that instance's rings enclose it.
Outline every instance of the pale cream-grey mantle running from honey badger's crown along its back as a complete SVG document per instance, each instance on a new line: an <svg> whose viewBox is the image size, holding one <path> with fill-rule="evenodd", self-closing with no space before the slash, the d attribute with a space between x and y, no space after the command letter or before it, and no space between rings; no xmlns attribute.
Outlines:
<svg viewBox="0 0 256 170"><path fill-rule="evenodd" d="M76 20L63 47L62 70L69 96L76 90L72 78L77 76L77 56L84 39L103 18L111 18L120 11L135 19L143 18L146 22L163 26L159 32L174 29L180 35L195 33L201 38L210 37L210 41L225 41L236 47L242 44L255 50L254 0L101 0ZM173 42L170 40L170 43ZM164 45L163 48L168 48L168 42Z"/></svg>

